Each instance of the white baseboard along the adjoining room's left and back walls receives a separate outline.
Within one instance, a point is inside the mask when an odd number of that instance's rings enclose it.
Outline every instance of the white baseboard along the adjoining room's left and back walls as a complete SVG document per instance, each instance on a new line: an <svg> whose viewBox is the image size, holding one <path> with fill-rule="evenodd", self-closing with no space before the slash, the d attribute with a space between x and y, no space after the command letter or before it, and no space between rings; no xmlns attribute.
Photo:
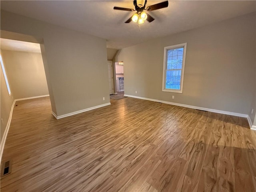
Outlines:
<svg viewBox="0 0 256 192"><path fill-rule="evenodd" d="M4 145L5 145L5 141L6 141L6 138L7 138L7 134L8 134L8 131L9 131L9 128L10 128L10 123L11 123L11 120L12 120L12 112L13 112L13 108L15 106L15 103L16 101L21 101L21 100L27 100L27 99L34 99L34 98L40 98L40 97L47 97L49 95L40 95L40 96L35 96L35 97L27 97L27 98L21 98L21 99L15 99L12 103L12 108L11 108L11 111L10 111L10 116L9 116L9 119L8 119L8 122L6 124L6 128L4 130L4 135L3 135L3 138L1 140L1 149L0 149L0 164L1 164L1 161L2 161L2 155L3 155L3 152L4 152Z"/></svg>

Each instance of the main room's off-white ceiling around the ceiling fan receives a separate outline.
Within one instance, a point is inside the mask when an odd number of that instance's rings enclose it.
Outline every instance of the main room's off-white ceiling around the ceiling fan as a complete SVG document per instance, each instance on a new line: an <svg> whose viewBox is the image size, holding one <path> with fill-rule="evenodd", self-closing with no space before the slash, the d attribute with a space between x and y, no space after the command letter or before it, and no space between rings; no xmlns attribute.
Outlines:
<svg viewBox="0 0 256 192"><path fill-rule="evenodd" d="M147 5L162 1L148 0ZM1 9L107 39L107 47L120 49L161 36L198 28L256 11L256 1L169 1L168 8L150 13L151 23L124 23L134 12L133 1L4 1Z"/></svg>

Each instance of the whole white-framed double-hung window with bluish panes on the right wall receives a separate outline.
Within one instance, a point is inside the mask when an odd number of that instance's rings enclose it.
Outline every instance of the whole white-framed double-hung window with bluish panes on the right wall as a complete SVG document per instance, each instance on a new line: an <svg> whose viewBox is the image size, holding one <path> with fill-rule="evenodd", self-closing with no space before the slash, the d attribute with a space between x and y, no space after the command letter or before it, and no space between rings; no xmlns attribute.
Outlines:
<svg viewBox="0 0 256 192"><path fill-rule="evenodd" d="M162 91L182 93L187 43L164 47Z"/></svg>

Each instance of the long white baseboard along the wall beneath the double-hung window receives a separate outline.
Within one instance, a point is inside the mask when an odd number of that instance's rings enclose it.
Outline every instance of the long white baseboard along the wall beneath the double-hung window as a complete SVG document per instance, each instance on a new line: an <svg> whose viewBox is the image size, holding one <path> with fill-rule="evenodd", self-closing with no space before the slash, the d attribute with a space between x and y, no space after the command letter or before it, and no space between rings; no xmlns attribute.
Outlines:
<svg viewBox="0 0 256 192"><path fill-rule="evenodd" d="M160 103L166 103L166 104L170 104L170 105L182 106L182 107L187 107L187 108L192 108L192 109L204 110L204 111L209 111L209 112L214 112L214 113L233 115L233 116L245 117L245 118L248 117L247 114L234 113L234 112L228 112L228 111L222 111L222 110L216 110L216 109L209 109L209 108L204 108L204 107L197 107L197 106L192 106L192 105L173 103L173 102L162 101L162 100L157 100L157 99L150 99L150 98L145 98L145 97L138 97L138 96L133 96L133 95L125 94L124 96L138 98L138 99L144 99L144 100L149 100L149 101L155 101L155 102L160 102Z"/></svg>

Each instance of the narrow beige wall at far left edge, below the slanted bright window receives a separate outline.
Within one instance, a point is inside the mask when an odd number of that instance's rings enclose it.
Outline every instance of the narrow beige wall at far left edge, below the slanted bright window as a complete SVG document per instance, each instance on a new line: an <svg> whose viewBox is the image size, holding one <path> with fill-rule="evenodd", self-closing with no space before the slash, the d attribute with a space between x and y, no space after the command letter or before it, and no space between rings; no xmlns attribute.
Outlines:
<svg viewBox="0 0 256 192"><path fill-rule="evenodd" d="M8 93L6 83L4 80L4 74L2 71L2 67L0 67L0 68L1 68L1 73L0 73L0 78L1 78L1 80L0 80L0 84L1 84L0 85L1 86L0 87L0 118L1 118L0 139L2 141L14 99L12 98L12 95L9 95L9 93Z"/></svg>

